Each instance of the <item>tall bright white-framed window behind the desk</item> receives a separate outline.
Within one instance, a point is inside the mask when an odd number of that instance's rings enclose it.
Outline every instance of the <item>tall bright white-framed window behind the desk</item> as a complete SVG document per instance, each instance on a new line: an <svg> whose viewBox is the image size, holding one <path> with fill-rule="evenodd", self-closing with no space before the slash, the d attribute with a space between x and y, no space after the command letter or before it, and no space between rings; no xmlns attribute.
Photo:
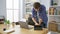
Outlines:
<svg viewBox="0 0 60 34"><path fill-rule="evenodd" d="M18 22L19 20L19 0L6 0L7 20Z"/></svg>

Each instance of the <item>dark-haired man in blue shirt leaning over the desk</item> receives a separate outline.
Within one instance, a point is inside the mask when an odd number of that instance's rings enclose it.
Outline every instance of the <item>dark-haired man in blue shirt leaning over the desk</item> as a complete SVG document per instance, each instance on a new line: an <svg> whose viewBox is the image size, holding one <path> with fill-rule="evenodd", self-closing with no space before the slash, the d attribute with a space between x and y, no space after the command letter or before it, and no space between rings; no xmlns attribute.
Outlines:
<svg viewBox="0 0 60 34"><path fill-rule="evenodd" d="M32 20L35 23L35 25L39 25L42 28L47 27L48 17L46 14L46 8L39 2L35 2L33 5Z"/></svg>

